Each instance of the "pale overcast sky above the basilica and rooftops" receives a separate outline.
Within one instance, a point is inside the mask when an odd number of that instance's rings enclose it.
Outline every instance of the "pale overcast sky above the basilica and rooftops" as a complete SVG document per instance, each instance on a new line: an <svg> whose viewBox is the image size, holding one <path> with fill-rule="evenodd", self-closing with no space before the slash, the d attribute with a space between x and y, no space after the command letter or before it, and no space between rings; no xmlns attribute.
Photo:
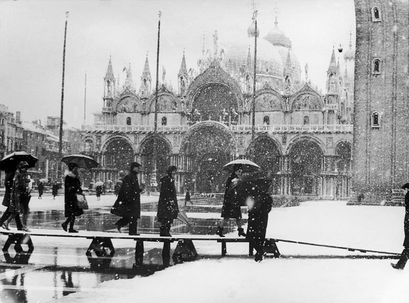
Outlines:
<svg viewBox="0 0 409 303"><path fill-rule="evenodd" d="M348 49L352 29L355 45L355 12L352 0L257 1L258 27L264 37L278 26L292 41L303 71L308 62L309 78L324 91L332 47ZM69 11L65 56L64 120L80 127L84 112L84 75L87 74L86 124L100 112L103 77L109 55L113 72L131 63L138 90L148 53L155 79L157 12L162 11L160 78L176 88L183 51L188 69L197 69L202 37L213 48L213 33L219 45L247 36L252 1L3 1L0 2L0 104L23 120L59 116L61 102L62 47L65 12ZM338 56L338 52L336 52ZM340 63L343 70L343 54Z"/></svg>

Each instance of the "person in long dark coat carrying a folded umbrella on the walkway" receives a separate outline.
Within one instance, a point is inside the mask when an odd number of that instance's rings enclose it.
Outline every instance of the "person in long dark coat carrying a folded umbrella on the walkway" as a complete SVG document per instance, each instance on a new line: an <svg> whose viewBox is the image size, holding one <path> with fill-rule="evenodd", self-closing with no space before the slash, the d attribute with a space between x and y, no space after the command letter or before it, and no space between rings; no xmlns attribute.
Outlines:
<svg viewBox="0 0 409 303"><path fill-rule="evenodd" d="M161 236L171 236L170 225L179 213L174 179L176 169L174 165L169 166L166 169L167 175L161 178L161 193L156 214L157 221L161 223Z"/></svg>

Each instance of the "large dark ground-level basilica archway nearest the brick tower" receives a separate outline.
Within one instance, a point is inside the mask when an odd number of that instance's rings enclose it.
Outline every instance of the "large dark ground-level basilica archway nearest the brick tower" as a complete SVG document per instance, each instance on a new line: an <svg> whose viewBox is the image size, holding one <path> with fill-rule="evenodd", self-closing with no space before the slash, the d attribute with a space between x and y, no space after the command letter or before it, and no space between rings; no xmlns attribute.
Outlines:
<svg viewBox="0 0 409 303"><path fill-rule="evenodd" d="M300 140L290 149L291 194L319 196L324 154L312 140Z"/></svg>

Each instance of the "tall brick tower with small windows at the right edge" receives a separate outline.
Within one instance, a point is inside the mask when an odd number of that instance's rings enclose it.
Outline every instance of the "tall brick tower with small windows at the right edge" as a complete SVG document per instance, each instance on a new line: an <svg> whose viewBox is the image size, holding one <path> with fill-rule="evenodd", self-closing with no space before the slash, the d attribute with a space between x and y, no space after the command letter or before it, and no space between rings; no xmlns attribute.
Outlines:
<svg viewBox="0 0 409 303"><path fill-rule="evenodd" d="M409 3L355 0L355 13L352 183L379 202L409 176Z"/></svg>

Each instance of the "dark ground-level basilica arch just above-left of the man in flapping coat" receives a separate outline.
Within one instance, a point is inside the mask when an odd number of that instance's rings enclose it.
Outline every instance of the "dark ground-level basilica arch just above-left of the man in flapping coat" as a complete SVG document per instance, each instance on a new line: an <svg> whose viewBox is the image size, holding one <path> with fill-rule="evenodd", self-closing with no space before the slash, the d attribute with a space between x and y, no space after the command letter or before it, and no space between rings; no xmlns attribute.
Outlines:
<svg viewBox="0 0 409 303"><path fill-rule="evenodd" d="M105 166L116 168L117 172L126 172L134 161L134 153L130 142L123 137L109 138L103 148Z"/></svg>

